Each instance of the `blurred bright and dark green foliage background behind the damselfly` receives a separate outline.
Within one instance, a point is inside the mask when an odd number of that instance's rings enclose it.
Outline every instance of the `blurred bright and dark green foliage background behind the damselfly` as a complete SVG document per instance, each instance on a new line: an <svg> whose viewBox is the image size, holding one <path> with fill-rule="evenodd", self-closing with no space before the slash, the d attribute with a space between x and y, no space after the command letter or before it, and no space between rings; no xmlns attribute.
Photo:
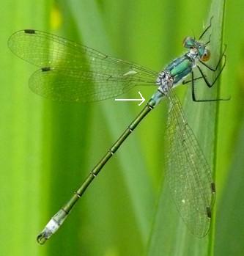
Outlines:
<svg viewBox="0 0 244 256"><path fill-rule="evenodd" d="M202 239L185 229L168 197L160 230L155 229L163 103L127 139L58 233L45 246L37 244L48 219L141 108L114 100L57 103L34 95L28 78L37 68L7 48L16 30L40 29L159 71L182 53L185 36L201 34L210 5L208 0L1 1L0 255L243 255L243 0L226 2L221 96L231 100L218 104L215 222ZM140 88L146 99L154 90ZM125 96L137 95L138 88Z"/></svg>

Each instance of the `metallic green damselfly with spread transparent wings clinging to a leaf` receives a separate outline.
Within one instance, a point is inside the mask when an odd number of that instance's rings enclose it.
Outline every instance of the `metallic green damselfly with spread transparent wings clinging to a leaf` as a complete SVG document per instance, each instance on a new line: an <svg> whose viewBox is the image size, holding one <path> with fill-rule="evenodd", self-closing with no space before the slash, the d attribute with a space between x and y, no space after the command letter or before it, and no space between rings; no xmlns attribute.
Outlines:
<svg viewBox="0 0 244 256"><path fill-rule="evenodd" d="M35 93L45 98L91 102L114 98L136 85L157 87L144 109L133 122L130 122L117 142L89 172L81 187L37 236L40 244L44 244L59 229L75 203L111 156L163 98L169 106L166 126L166 180L177 210L191 233L197 237L207 234L210 229L215 183L199 142L186 122L180 101L172 89L179 84L191 82L194 101L214 101L214 99L197 99L194 90L194 81L198 79L203 79L207 87L212 87L226 63L223 51L215 67L206 64L210 59L210 51L207 49L210 36L207 42L203 42L203 37L210 27L211 21L199 40L186 37L183 46L188 51L174 59L159 74L141 65L101 54L92 48L46 32L25 29L12 34L8 41L11 51L40 67L31 76L29 86ZM223 65L221 65L222 59ZM213 81L209 81L204 75L203 66L213 73L216 72ZM199 70L198 77L194 77L194 68ZM191 75L191 79L187 81L185 78L188 75Z"/></svg>

